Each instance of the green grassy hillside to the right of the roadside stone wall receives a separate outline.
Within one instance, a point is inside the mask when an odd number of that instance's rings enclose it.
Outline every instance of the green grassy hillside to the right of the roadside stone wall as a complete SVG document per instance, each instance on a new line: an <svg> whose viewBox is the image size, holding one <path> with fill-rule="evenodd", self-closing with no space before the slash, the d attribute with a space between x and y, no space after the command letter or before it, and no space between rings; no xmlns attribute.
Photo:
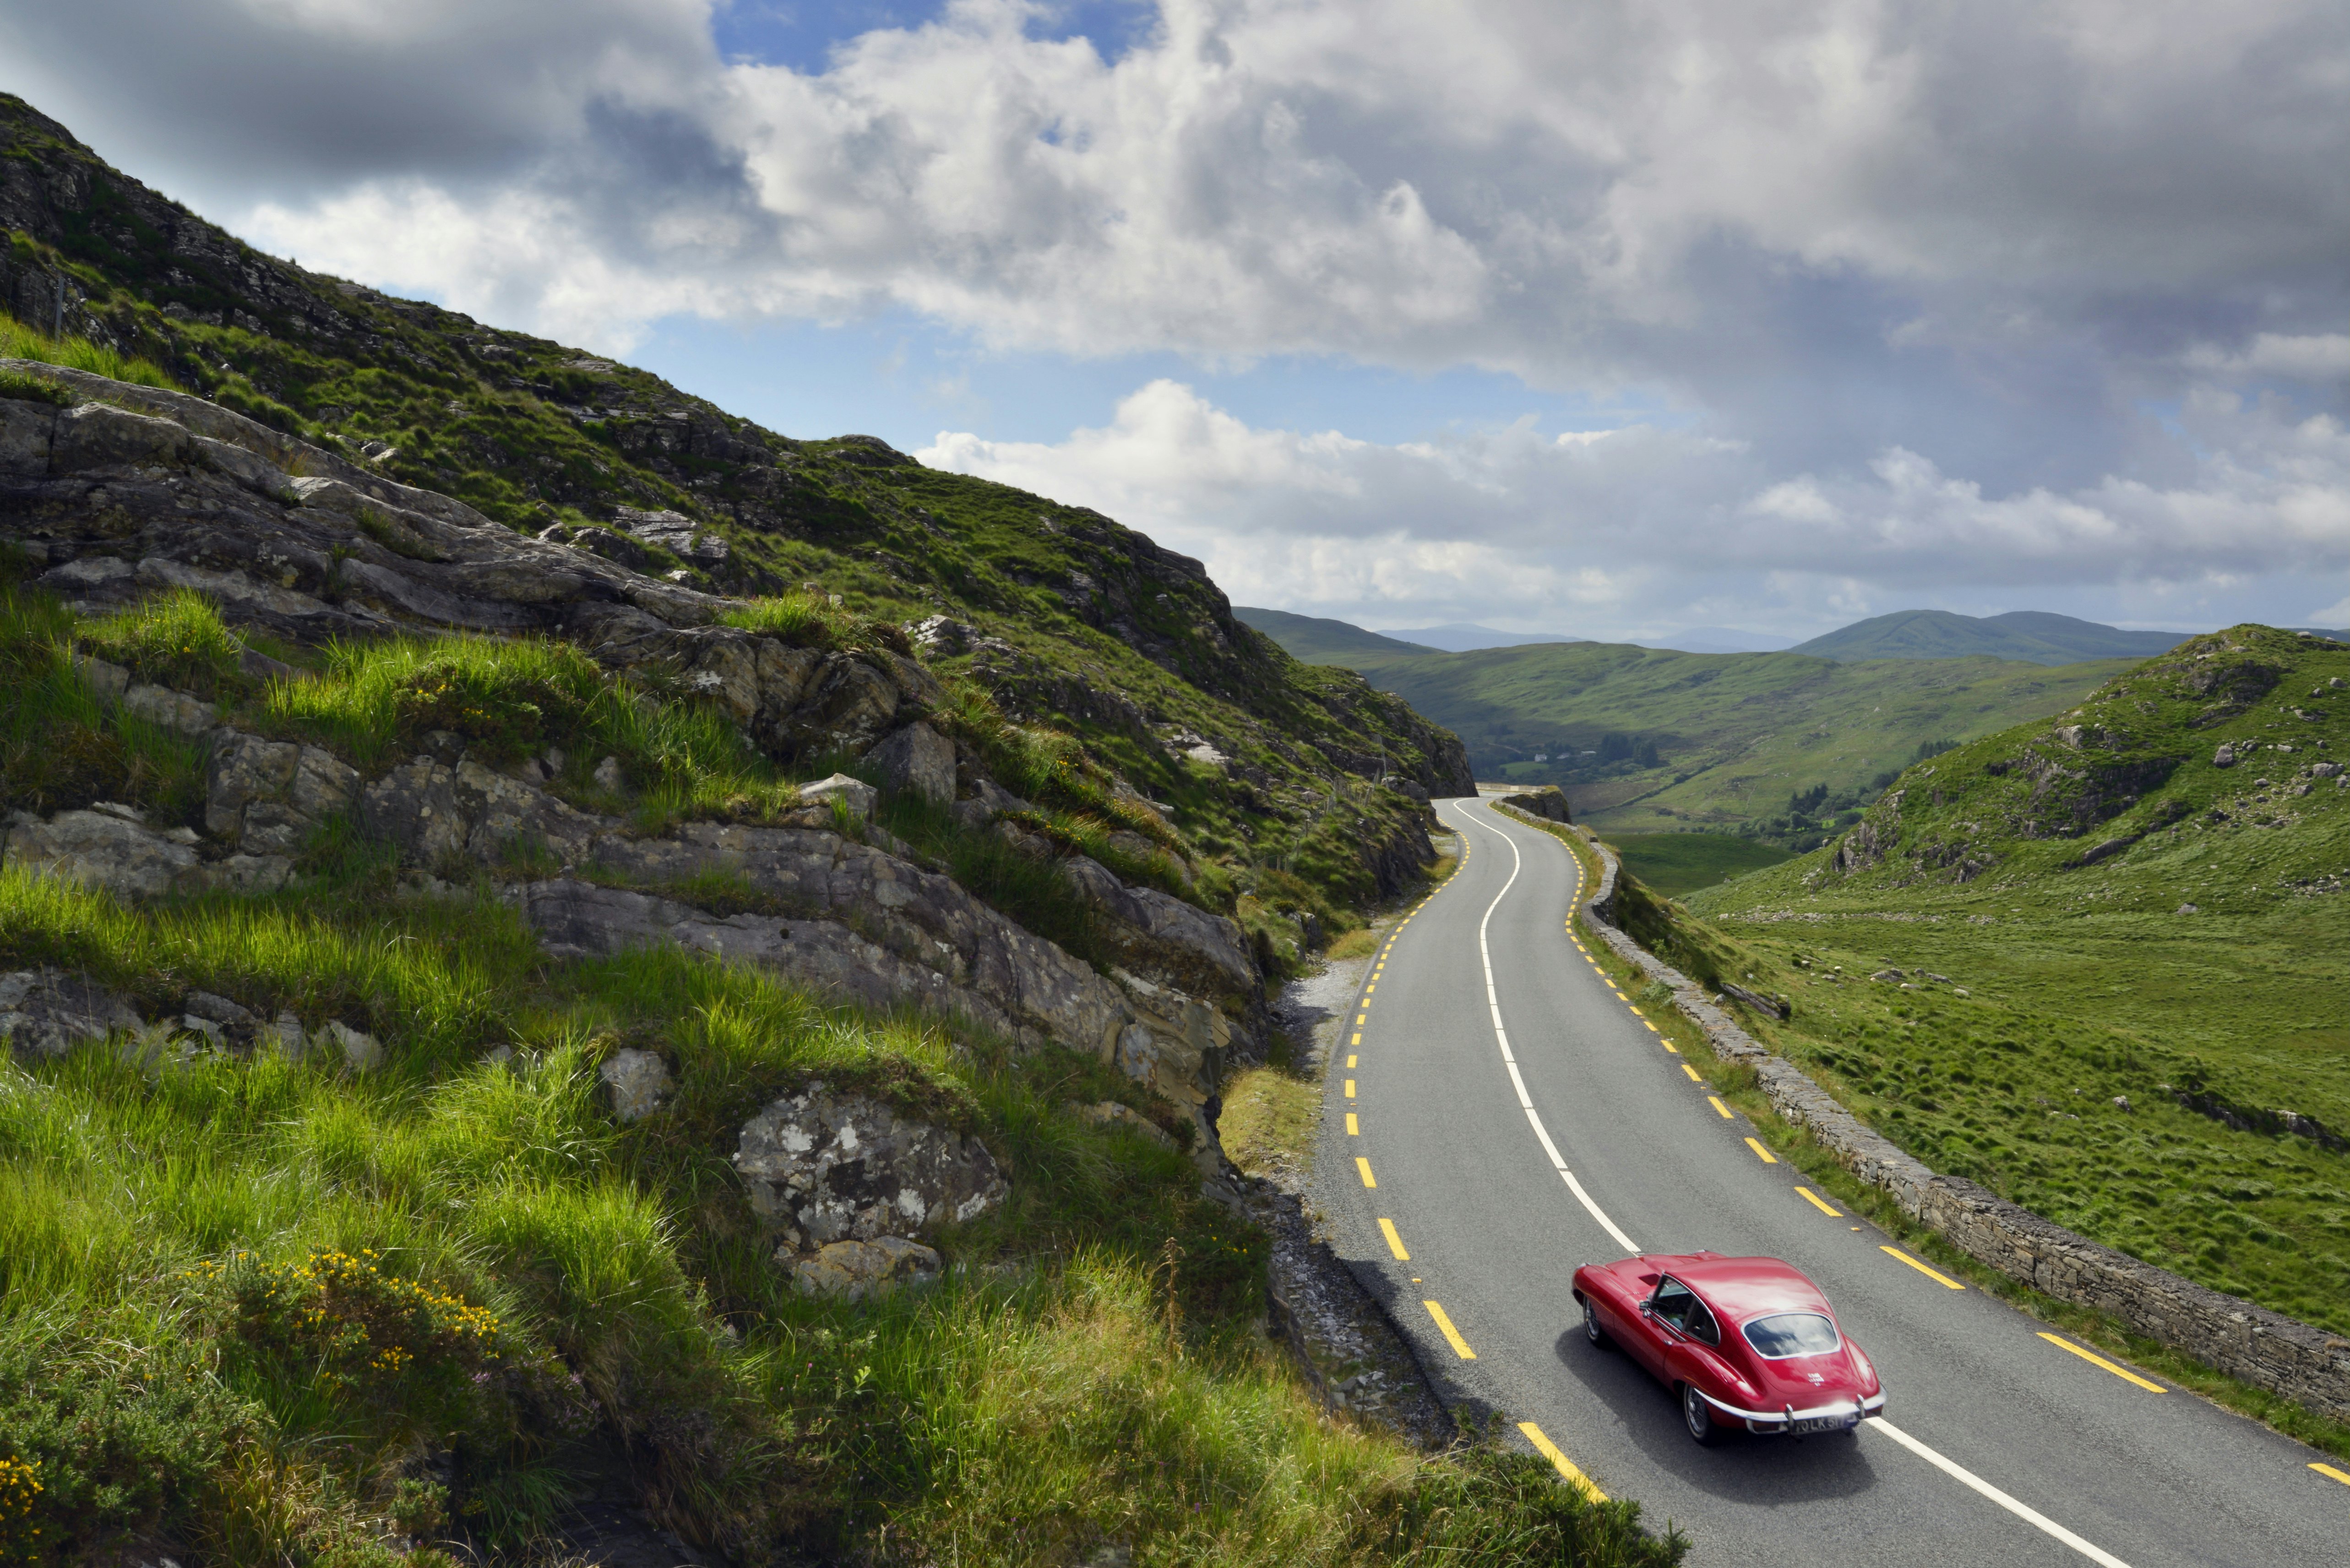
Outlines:
<svg viewBox="0 0 2350 1568"><path fill-rule="evenodd" d="M2350 1128L2350 792L2287 792L2350 759L2345 698L2350 649L2195 639L2054 719L2087 748L2044 722L1911 769L1871 813L1882 860L1819 851L1694 896L1699 919L1659 905L1650 936L1793 997L1791 1023L1748 1027L1927 1164L2350 1333L2350 1154L2174 1100ZM2296 750L2218 769L2221 741ZM1885 966L1922 990L1864 978Z"/></svg>

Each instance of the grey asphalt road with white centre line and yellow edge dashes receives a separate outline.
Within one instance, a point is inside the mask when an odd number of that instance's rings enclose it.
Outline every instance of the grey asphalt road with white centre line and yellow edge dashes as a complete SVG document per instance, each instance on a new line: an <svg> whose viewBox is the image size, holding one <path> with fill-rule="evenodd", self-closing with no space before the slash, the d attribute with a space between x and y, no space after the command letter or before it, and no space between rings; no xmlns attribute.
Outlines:
<svg viewBox="0 0 2350 1568"><path fill-rule="evenodd" d="M1577 950L1574 856L1476 799L1438 813L1469 853L1382 950L1361 1041L1354 1018L1340 1034L1316 1180L1340 1253L1459 1403L1513 1443L1532 1422L1687 1530L1692 1563L2350 1563L2350 1483L2310 1469L2326 1455L2138 1387L1824 1213ZM1582 1335L1570 1276L1626 1241L1805 1269L1875 1359L1887 1420L1699 1448L1664 1387Z"/></svg>

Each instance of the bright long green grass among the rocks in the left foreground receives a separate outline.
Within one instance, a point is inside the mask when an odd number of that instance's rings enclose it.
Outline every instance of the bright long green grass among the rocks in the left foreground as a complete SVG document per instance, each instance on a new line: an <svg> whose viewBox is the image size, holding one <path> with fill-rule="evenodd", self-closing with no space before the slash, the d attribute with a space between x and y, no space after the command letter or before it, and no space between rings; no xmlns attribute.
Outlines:
<svg viewBox="0 0 2350 1568"><path fill-rule="evenodd" d="M19 592L5 625L12 802L200 799L193 748L75 696L70 642L355 757L451 719L482 743L524 719L531 745L592 736L651 785L588 799L609 809L724 792L759 813L787 783L559 646L378 644L251 689L193 597L75 625ZM1184 1157L1060 1110L1166 1119L1093 1056L1013 1056L677 952L550 964L486 884L404 893L348 835L306 872L143 910L0 872L0 969L87 971L148 1016L209 990L388 1053L367 1079L275 1056L0 1065L0 1561L125 1537L200 1563L423 1566L435 1540L522 1561L583 1488L738 1559L1678 1559L1539 1460L1431 1462L1325 1420L1257 1333L1262 1237ZM595 1079L620 1046L679 1079L627 1128ZM1008 1168L1008 1204L942 1239L971 1265L945 1286L820 1305L766 1260L726 1157L811 1074Z"/></svg>

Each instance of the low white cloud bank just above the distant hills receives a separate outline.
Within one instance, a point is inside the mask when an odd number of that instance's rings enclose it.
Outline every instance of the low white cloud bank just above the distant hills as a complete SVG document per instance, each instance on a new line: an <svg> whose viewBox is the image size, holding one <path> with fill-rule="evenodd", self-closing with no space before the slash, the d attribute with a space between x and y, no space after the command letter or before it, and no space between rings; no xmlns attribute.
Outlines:
<svg viewBox="0 0 2350 1568"><path fill-rule="evenodd" d="M1849 473L1772 480L1737 444L1647 425L1394 447L1260 430L1175 381L1062 442L940 433L916 456L1142 527L1203 557L1236 602L1372 623L1582 614L1607 630L1671 621L1692 592L1737 604L1739 583L1746 614L1777 616L2350 569L2350 435L2336 421L2225 397L2190 416L2225 456L2188 484L2009 496L1899 447Z"/></svg>

